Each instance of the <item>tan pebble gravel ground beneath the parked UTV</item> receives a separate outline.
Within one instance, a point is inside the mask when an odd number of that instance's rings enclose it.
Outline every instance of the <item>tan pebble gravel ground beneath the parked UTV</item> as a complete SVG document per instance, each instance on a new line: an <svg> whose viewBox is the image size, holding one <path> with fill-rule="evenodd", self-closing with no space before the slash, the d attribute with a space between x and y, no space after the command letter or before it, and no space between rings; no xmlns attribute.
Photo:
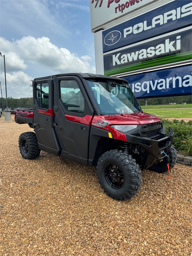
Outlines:
<svg viewBox="0 0 192 256"><path fill-rule="evenodd" d="M13 118L13 117L12 117ZM192 255L191 168L142 172L127 201L104 194L95 167L18 149L28 125L0 119L0 255Z"/></svg>

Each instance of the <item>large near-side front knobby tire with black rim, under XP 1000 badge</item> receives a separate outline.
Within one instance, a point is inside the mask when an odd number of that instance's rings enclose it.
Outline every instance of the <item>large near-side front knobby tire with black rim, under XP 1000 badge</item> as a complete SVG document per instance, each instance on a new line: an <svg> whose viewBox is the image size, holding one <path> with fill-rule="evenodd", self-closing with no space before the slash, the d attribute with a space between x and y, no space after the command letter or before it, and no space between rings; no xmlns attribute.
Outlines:
<svg viewBox="0 0 192 256"><path fill-rule="evenodd" d="M104 153L97 163L97 175L104 192L116 200L133 197L141 186L139 165L122 150Z"/></svg>

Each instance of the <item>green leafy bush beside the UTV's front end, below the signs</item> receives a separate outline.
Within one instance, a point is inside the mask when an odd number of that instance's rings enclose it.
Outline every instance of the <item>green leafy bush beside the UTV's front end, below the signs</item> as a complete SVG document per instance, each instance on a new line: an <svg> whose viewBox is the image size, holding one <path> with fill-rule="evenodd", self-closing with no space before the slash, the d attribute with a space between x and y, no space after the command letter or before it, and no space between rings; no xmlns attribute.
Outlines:
<svg viewBox="0 0 192 256"><path fill-rule="evenodd" d="M166 133L169 133L169 126L172 127L174 131L173 145L176 150L183 150L184 153L191 154L191 131L192 131L192 121L184 122L184 120L169 121L167 119L162 119L163 124L166 128ZM185 143L183 142L185 141Z"/></svg>

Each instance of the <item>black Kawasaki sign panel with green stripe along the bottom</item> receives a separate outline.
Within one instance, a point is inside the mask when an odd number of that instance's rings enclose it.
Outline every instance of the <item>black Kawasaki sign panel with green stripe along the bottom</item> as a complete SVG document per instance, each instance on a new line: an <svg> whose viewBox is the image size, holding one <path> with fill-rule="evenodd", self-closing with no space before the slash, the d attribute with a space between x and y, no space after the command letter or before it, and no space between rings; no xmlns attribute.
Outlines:
<svg viewBox="0 0 192 256"><path fill-rule="evenodd" d="M185 31L183 31L185 30ZM104 74L114 75L191 59L191 27L104 55Z"/></svg>

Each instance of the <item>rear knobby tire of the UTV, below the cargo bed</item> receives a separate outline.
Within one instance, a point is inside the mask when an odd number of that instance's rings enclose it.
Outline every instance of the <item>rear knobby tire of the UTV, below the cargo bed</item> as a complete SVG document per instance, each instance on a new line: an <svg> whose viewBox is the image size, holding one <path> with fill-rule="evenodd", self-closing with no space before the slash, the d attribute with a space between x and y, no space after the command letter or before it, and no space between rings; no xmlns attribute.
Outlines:
<svg viewBox="0 0 192 256"><path fill-rule="evenodd" d="M19 150L23 158L35 159L41 150L35 132L24 132L19 136Z"/></svg>

